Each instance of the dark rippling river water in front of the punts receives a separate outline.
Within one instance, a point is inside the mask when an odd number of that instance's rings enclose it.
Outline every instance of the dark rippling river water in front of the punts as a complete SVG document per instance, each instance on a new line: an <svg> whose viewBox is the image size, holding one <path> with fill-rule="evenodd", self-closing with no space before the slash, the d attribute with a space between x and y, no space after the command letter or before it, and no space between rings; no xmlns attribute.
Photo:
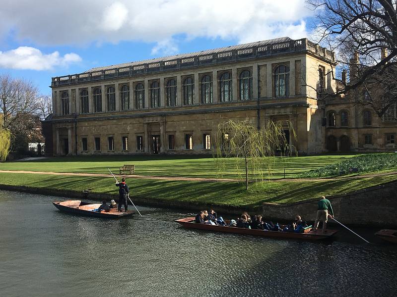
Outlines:
<svg viewBox="0 0 397 297"><path fill-rule="evenodd" d="M0 296L396 296L397 247L374 237L208 233L173 222L183 211L139 207L142 219L104 220L53 200L0 191Z"/></svg>

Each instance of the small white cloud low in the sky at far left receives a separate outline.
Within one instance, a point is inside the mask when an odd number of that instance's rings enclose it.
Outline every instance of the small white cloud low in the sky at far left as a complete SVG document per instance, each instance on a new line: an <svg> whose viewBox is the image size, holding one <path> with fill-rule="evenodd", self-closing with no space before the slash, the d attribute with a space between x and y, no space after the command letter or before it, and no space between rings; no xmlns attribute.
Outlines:
<svg viewBox="0 0 397 297"><path fill-rule="evenodd" d="M51 70L55 66L67 66L80 61L81 57L75 53L66 53L64 56L58 51L43 54L40 49L31 47L0 51L0 68Z"/></svg>

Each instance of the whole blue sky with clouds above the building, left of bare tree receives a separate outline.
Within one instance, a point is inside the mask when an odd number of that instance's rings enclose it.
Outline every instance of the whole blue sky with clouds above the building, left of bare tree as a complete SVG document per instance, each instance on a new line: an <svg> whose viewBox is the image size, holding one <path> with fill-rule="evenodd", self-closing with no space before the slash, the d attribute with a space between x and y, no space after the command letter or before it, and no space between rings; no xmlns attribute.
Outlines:
<svg viewBox="0 0 397 297"><path fill-rule="evenodd" d="M0 74L51 77L277 37L309 37L305 0L5 0Z"/></svg>

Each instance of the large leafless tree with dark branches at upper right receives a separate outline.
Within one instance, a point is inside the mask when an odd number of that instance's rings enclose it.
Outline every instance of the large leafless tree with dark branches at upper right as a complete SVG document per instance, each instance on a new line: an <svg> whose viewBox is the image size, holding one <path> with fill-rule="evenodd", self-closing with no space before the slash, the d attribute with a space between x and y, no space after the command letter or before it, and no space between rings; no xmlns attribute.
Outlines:
<svg viewBox="0 0 397 297"><path fill-rule="evenodd" d="M343 73L333 96L348 94L354 103L372 106L380 117L394 110L397 0L307 1L317 11L318 42L337 53Z"/></svg>

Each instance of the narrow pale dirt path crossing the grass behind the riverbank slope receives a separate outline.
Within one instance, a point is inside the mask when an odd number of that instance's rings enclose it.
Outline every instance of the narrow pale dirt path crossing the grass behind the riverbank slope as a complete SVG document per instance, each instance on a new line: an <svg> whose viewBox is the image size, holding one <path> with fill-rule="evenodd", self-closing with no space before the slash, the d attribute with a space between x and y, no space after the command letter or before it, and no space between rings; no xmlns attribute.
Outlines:
<svg viewBox="0 0 397 297"><path fill-rule="evenodd" d="M73 173L73 172L48 172L48 171L17 171L17 170L0 170L0 173L32 173L32 174L45 174L45 175L66 175L66 176L87 176L87 177L112 177L110 174L99 174L99 173ZM333 178L318 178L318 179L270 179L274 182L303 182L303 181L331 181L341 179L359 179L359 178L370 178L377 176L390 176L397 174L397 171L374 173L366 175L355 175L348 177L333 177ZM222 178L200 178L200 177L178 177L178 176L146 176L146 175L116 175L116 178L128 177L128 178L139 178L139 179L157 179L166 181L198 181L198 182L236 182L241 181L238 179L222 179Z"/></svg>

